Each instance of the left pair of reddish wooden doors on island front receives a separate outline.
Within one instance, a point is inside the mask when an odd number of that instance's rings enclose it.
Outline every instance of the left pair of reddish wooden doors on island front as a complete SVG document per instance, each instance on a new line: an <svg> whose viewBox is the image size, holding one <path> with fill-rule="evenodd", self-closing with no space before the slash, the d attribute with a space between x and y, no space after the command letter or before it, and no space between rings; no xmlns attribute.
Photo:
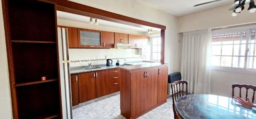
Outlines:
<svg viewBox="0 0 256 119"><path fill-rule="evenodd" d="M145 73L148 77L144 77ZM157 105L158 93L158 68L138 70L131 72L131 115L136 116L141 112Z"/></svg>

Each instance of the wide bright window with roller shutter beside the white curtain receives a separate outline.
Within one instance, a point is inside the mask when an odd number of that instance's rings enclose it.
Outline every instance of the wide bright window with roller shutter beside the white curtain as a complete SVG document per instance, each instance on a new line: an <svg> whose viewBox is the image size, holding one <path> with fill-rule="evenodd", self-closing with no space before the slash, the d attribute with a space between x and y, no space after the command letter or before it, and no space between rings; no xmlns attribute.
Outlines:
<svg viewBox="0 0 256 119"><path fill-rule="evenodd" d="M255 29L214 33L211 65L256 69L255 44Z"/></svg>

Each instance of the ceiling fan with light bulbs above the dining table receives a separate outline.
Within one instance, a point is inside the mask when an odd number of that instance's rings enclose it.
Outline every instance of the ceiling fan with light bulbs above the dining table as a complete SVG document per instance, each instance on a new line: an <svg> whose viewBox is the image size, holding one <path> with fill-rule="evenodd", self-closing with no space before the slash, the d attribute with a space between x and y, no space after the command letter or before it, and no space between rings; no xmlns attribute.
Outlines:
<svg viewBox="0 0 256 119"><path fill-rule="evenodd" d="M209 3L214 3L214 2L218 2L218 1L223 1L223 0L215 0L215 1L210 1L210 2L206 2L206 3L201 3L201 4L197 4L193 7L197 7L197 6L201 6L201 5L205 5L205 4L209 4ZM247 10L249 10L250 13L254 13L256 11L256 6L254 4L254 0L234 0L234 4L228 10L233 11L232 16L237 16L238 13L240 13L242 10L244 10L244 5L246 3L249 3L249 8Z"/></svg>

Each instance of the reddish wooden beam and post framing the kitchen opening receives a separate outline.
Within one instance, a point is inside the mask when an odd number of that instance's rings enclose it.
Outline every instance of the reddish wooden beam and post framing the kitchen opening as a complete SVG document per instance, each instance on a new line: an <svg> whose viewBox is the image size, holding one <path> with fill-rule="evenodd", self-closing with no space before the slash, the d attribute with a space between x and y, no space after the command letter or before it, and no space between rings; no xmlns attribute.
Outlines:
<svg viewBox="0 0 256 119"><path fill-rule="evenodd" d="M130 25L135 27L142 27L142 28L154 27L154 28L161 29L161 60L160 62L164 63L164 41L165 41L165 30L166 30L165 26L140 20L140 19L136 19L136 18L132 18L132 17L128 17L128 16L124 16L124 15L120 15L120 14L116 14L113 12L93 8L90 6L70 2L67 0L39 0L39 1L56 4L56 8L58 11L69 12L69 13L89 16L93 18L99 18L102 20L123 23L124 25Z"/></svg>

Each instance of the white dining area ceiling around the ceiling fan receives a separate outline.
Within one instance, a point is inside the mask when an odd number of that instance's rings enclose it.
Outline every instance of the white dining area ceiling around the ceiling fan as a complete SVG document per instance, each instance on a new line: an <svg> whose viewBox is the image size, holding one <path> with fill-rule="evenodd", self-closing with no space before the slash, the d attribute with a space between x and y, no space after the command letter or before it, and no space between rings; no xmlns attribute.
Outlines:
<svg viewBox="0 0 256 119"><path fill-rule="evenodd" d="M159 9L166 13L182 16L209 8L214 8L224 4L230 3L230 6L234 2L233 0L223 0L215 3L210 3L202 6L193 7L194 5L210 2L214 0L135 0L147 6Z"/></svg>

